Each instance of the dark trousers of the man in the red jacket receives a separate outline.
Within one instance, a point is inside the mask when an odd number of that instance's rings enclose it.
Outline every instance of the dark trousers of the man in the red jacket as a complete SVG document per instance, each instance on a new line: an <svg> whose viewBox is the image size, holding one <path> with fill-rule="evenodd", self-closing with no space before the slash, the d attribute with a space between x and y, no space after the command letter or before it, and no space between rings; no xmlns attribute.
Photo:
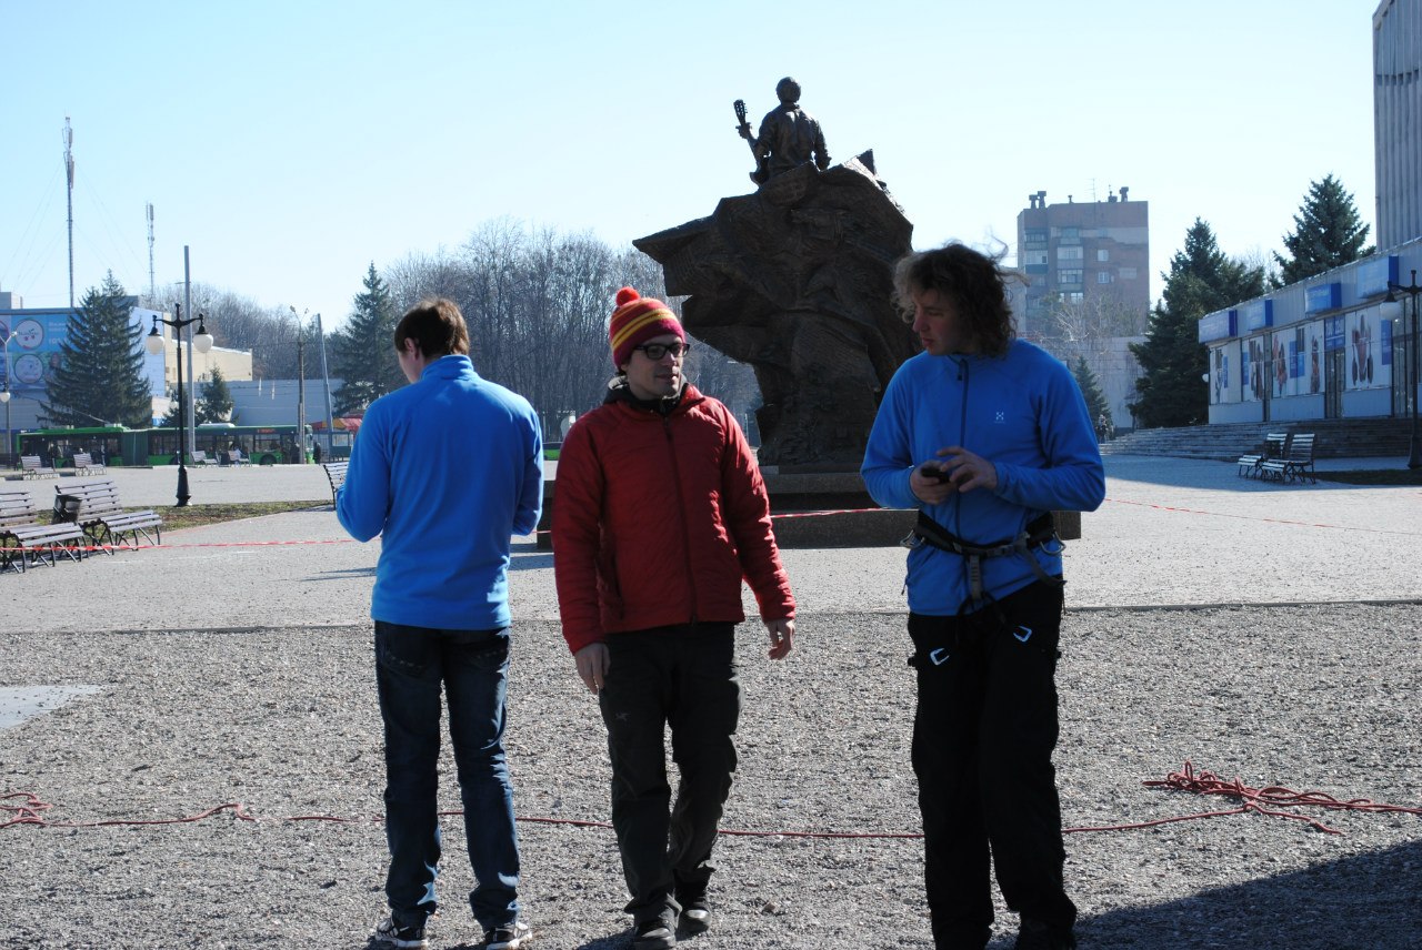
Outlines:
<svg viewBox="0 0 1422 950"><path fill-rule="evenodd" d="M599 697L613 765L613 829L638 923L673 920L675 897L705 893L707 862L737 757L741 719L735 626L694 623L607 638L610 666ZM667 781L665 728L681 772L675 804Z"/></svg>

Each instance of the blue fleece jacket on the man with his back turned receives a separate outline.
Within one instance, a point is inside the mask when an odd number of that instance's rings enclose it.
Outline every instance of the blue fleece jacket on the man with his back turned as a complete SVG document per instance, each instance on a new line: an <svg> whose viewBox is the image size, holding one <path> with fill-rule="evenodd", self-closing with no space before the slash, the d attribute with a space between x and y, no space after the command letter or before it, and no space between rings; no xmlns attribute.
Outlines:
<svg viewBox="0 0 1422 950"><path fill-rule="evenodd" d="M370 615L451 630L509 625L509 535L543 506L543 436L522 396L441 356L371 403L336 514L381 535Z"/></svg>

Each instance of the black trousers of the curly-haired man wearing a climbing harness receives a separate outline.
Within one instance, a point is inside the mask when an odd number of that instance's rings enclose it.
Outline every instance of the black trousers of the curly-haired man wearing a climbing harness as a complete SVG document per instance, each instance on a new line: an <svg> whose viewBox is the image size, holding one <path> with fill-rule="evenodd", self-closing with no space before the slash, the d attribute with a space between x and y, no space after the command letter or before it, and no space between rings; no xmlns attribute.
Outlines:
<svg viewBox="0 0 1422 950"><path fill-rule="evenodd" d="M993 868L1012 910L1064 927L1076 919L1052 767L1061 616L1061 585L1042 581L974 613L909 615L913 770L940 949L987 946Z"/></svg>

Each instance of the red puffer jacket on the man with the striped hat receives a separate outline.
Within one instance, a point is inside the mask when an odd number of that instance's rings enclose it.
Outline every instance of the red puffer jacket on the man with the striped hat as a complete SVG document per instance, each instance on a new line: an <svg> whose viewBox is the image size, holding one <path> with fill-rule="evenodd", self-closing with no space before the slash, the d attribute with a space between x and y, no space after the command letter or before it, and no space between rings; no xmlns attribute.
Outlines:
<svg viewBox="0 0 1422 950"><path fill-rule="evenodd" d="M687 386L668 415L610 400L557 459L553 574L574 653L607 633L795 616L765 483L731 412Z"/></svg>

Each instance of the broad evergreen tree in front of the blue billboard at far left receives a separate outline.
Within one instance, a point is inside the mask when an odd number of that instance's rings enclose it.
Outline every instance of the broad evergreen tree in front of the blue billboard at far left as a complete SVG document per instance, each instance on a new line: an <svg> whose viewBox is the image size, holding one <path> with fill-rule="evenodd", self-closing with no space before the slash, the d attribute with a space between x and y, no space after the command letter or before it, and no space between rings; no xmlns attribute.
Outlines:
<svg viewBox="0 0 1422 950"><path fill-rule="evenodd" d="M109 273L84 294L60 344L60 365L44 406L50 425L152 425L154 402L144 379L144 328L129 322L134 298Z"/></svg>

